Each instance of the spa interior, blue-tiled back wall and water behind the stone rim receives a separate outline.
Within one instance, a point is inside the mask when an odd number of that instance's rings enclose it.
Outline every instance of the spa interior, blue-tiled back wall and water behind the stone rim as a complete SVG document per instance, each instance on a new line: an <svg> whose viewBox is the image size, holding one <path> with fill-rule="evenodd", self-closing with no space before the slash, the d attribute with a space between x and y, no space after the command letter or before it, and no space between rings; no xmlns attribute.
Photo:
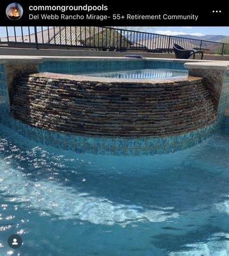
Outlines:
<svg viewBox="0 0 229 256"><path fill-rule="evenodd" d="M40 64L39 69L40 72L128 79L157 79L188 76L188 70L184 68L184 63L176 61L45 61Z"/></svg>

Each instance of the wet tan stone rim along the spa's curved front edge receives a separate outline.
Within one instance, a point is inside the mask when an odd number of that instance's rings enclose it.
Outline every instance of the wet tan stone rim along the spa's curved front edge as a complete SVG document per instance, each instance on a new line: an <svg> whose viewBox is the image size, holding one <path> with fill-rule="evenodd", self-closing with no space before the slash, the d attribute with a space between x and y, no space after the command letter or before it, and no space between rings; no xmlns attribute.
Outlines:
<svg viewBox="0 0 229 256"><path fill-rule="evenodd" d="M192 77L192 76L184 76L184 77L171 77L167 79L122 79L122 78L111 78L111 77L93 77L93 76L76 76L76 75L68 75L68 74L56 74L50 72L40 72L37 74L31 74L30 77L44 77L47 79L68 79L73 81L89 81L89 82L98 82L98 83L116 83L116 84L171 84L175 82L182 81L196 81L202 79L202 77Z"/></svg>

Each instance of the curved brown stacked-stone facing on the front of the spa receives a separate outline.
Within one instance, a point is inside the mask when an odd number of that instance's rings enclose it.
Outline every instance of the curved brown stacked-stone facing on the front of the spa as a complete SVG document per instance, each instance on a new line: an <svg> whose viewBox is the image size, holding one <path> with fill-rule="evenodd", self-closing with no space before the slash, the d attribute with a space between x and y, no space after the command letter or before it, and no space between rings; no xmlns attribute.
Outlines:
<svg viewBox="0 0 229 256"><path fill-rule="evenodd" d="M171 136L216 121L200 77L139 81L39 73L21 76L11 116L33 127L90 136Z"/></svg>

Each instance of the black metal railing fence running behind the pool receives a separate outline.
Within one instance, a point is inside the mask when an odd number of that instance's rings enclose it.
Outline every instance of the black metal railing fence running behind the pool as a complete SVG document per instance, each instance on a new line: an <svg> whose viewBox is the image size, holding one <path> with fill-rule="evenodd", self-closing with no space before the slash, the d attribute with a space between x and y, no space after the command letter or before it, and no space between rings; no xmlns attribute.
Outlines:
<svg viewBox="0 0 229 256"><path fill-rule="evenodd" d="M98 26L0 27L1 47L82 47L97 51L173 52L173 45L229 54L229 44Z"/></svg>

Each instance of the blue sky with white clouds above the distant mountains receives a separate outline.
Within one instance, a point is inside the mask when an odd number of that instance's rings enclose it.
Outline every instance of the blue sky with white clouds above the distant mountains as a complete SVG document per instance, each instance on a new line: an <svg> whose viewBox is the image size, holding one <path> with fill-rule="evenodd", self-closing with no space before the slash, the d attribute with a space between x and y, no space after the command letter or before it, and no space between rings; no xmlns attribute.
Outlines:
<svg viewBox="0 0 229 256"><path fill-rule="evenodd" d="M229 36L229 27L142 27L138 30L162 35L226 35Z"/></svg>

